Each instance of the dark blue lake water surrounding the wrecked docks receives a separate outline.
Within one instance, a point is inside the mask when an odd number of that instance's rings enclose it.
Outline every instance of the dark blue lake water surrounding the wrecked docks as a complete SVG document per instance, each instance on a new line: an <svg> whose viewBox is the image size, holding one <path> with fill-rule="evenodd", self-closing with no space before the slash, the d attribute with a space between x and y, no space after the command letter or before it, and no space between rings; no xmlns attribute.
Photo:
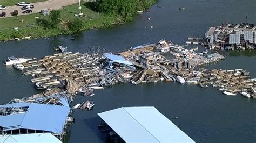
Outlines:
<svg viewBox="0 0 256 143"><path fill-rule="evenodd" d="M186 9L179 10L179 7ZM91 30L76 36L2 42L0 60L4 61L11 55L38 58L51 55L53 46L57 44L68 46L72 52L86 52L93 46L104 47L106 52L117 52L163 38L183 45L188 37L204 37L209 26L218 26L223 22L243 23L246 16L248 23L256 24L255 7L254 0L160 0L142 17L136 15L132 22L124 25ZM75 40L70 40L73 37ZM256 51L224 54L226 61L205 68L244 68L250 71L252 78L256 77ZM38 93L29 82L30 77L21 76L21 71L0 65L0 73L0 104ZM226 96L214 88L203 89L175 82L137 86L127 83L96 90L95 96L90 98L78 96L73 104L87 99L95 102L95 108L73 112L76 123L72 124L70 138L66 142L104 142L104 135L97 128L97 113L122 106L155 106L196 142L256 141L256 100L240 95Z"/></svg>

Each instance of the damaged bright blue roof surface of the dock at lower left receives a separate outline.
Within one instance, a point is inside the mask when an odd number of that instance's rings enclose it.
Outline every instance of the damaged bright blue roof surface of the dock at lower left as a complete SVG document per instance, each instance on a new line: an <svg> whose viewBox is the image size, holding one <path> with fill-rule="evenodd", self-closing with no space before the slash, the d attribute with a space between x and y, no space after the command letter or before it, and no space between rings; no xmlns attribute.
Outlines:
<svg viewBox="0 0 256 143"><path fill-rule="evenodd" d="M62 133L63 125L69 115L70 108L60 105L45 105L34 103L14 103L0 105L1 108L21 108L28 107L27 111L11 113L0 116L0 126L3 131L15 130L19 128L30 130L42 130L53 133Z"/></svg>

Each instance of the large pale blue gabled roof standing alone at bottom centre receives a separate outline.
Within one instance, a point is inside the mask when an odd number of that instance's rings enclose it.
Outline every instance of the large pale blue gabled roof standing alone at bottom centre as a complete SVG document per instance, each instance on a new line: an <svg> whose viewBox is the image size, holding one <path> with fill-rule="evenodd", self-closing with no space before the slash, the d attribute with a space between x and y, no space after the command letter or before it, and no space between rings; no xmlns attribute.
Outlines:
<svg viewBox="0 0 256 143"><path fill-rule="evenodd" d="M194 142L154 107L126 107L98 113L125 142Z"/></svg>

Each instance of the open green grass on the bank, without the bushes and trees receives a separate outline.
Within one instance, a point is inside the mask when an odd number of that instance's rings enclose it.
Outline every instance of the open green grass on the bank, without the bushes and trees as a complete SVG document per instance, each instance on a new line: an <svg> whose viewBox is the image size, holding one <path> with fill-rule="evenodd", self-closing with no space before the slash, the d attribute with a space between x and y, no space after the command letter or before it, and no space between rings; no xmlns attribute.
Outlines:
<svg viewBox="0 0 256 143"><path fill-rule="evenodd" d="M87 17L79 17L82 22L80 31L92 30L104 27L110 27L124 23L126 20L123 16L112 15L111 13L97 13L92 11L92 3L82 5L82 13ZM62 22L58 28L45 28L38 19L47 19L47 16L42 16L39 13L24 15L18 17L3 18L0 20L0 40L12 40L15 38L24 37L50 37L59 34L71 34L72 31L66 26L66 22L75 19L75 13L78 13L78 4L65 6L60 10ZM42 21L42 20L41 20ZM18 27L18 30L14 30Z"/></svg>

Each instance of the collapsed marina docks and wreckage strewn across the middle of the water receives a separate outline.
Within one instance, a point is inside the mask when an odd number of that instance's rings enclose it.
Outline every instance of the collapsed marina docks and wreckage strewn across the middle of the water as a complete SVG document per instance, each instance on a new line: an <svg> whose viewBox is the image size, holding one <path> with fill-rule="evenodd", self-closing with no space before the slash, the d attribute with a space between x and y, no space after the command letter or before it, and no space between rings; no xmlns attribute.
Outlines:
<svg viewBox="0 0 256 143"><path fill-rule="evenodd" d="M57 53L21 63L23 75L31 75L36 89L59 89L75 85L70 94L93 96L93 90L117 83L156 83L177 81L218 88L225 95L255 98L256 80L244 69L204 69L200 65L225 59L219 53L196 53L185 46L160 40L128 51L112 53ZM168 54L167 59L163 54ZM68 85L69 84L69 85ZM87 102L86 102L87 103ZM89 103L89 102L88 102ZM84 104L84 106L83 106ZM85 109L85 102L79 108Z"/></svg>

